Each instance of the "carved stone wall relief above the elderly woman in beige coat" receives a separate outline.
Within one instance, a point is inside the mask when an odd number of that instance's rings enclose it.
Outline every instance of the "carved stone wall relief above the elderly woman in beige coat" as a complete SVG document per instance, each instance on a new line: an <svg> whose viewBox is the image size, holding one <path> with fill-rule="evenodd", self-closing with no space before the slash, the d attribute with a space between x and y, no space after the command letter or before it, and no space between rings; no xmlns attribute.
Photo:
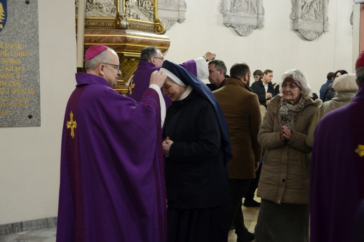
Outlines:
<svg viewBox="0 0 364 242"><path fill-rule="evenodd" d="M318 39L329 31L328 0L291 0L293 29L307 40Z"/></svg>

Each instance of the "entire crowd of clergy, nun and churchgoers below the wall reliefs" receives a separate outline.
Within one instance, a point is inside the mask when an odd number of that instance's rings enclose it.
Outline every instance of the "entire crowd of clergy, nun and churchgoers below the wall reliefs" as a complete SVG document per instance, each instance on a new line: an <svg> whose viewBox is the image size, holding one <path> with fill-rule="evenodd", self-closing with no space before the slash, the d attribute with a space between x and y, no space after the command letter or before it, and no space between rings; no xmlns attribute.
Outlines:
<svg viewBox="0 0 364 242"><path fill-rule="evenodd" d="M66 106L57 241L227 242L232 227L237 242L363 241L364 52L319 99L301 70L276 83L256 70L250 85L247 63L227 75L215 57L178 65L145 47L124 96L116 52L87 49ZM260 207L254 233L242 206Z"/></svg>

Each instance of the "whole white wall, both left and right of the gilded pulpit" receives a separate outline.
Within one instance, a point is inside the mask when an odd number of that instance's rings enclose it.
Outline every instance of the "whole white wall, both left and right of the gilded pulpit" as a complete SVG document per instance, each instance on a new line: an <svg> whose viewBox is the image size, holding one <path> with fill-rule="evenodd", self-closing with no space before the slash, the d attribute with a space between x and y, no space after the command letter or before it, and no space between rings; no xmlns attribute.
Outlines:
<svg viewBox="0 0 364 242"><path fill-rule="evenodd" d="M228 69L237 61L247 62L252 71L272 69L273 82L298 68L317 94L328 72L352 70L352 0L329 1L330 31L314 41L291 30L288 0L263 1L265 27L246 37L222 24L220 0L185 1L187 19L166 32L170 61L210 50ZM41 126L0 128L0 224L57 216L61 132L75 86L74 1L38 0L38 6Z"/></svg>

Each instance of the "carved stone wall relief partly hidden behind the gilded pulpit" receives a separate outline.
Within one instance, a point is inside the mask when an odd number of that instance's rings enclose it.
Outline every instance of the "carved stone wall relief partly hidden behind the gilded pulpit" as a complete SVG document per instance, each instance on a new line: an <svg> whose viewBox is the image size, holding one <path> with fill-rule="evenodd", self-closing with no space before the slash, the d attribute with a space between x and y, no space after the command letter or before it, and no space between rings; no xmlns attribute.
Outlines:
<svg viewBox="0 0 364 242"><path fill-rule="evenodd" d="M159 0L159 17L166 30L176 22L182 23L186 17L187 4L184 0Z"/></svg>

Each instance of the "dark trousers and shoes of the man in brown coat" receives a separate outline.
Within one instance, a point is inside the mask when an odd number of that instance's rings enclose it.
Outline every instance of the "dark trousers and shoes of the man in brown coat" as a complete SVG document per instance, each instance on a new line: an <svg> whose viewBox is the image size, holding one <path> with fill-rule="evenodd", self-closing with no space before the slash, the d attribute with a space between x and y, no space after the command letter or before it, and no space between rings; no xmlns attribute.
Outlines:
<svg viewBox="0 0 364 242"><path fill-rule="evenodd" d="M229 179L229 203L228 203L228 225L234 225L235 234L238 238L248 236L248 228L244 225L244 215L241 210L242 199L246 194L250 181L253 179Z"/></svg>

